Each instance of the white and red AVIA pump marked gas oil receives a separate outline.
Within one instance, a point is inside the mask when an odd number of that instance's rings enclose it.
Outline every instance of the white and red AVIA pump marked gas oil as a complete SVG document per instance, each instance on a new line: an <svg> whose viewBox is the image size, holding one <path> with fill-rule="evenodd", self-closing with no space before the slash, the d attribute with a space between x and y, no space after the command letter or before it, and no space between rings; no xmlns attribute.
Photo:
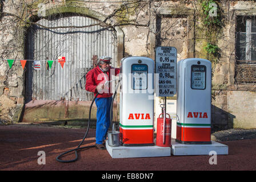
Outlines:
<svg viewBox="0 0 256 182"><path fill-rule="evenodd" d="M178 61L177 138L183 144L211 144L211 62Z"/></svg>

